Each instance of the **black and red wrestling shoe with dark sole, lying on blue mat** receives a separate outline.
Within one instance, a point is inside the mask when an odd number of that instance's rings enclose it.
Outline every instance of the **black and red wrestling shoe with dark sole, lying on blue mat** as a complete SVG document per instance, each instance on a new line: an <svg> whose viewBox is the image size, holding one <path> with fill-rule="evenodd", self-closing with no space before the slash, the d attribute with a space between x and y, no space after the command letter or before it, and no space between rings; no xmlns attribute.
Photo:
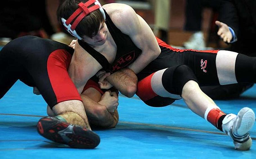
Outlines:
<svg viewBox="0 0 256 159"><path fill-rule="evenodd" d="M37 123L37 132L51 141L72 148L92 149L100 143L100 137L91 130L46 116Z"/></svg>

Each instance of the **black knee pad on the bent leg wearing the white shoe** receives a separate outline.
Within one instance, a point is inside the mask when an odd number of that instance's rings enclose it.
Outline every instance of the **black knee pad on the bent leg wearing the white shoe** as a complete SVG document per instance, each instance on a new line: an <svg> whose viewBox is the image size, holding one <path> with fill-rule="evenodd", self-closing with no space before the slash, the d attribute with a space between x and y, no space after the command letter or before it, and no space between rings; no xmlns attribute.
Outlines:
<svg viewBox="0 0 256 159"><path fill-rule="evenodd" d="M190 67L187 65L178 65L170 67L163 73L163 87L173 94L181 95L182 88L188 81L197 81L197 78Z"/></svg>

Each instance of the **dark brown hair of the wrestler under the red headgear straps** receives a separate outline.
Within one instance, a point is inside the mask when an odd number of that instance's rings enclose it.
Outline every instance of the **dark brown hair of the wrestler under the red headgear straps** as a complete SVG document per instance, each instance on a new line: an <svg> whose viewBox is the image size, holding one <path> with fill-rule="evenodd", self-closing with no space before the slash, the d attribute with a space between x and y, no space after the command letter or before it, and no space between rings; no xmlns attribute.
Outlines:
<svg viewBox="0 0 256 159"><path fill-rule="evenodd" d="M60 4L57 11L57 18L60 24L63 26L61 18L68 19L77 9L80 2L86 3L88 0L65 0ZM94 3L91 5L95 5ZM91 7L91 6L88 6ZM75 19L73 20L73 22ZM71 25L73 24L71 22ZM84 35L92 38L94 34L97 34L100 27L100 23L104 22L104 17L100 10L95 10L89 15L85 16L75 28L75 31L80 37Z"/></svg>

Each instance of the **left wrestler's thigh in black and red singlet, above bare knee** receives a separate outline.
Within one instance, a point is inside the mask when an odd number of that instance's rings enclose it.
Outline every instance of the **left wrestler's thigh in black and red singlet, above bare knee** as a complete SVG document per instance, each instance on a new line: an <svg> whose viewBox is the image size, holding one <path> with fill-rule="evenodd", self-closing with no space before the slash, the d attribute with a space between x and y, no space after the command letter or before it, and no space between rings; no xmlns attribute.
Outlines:
<svg viewBox="0 0 256 159"><path fill-rule="evenodd" d="M33 68L27 67L36 87L51 108L67 100L82 101L68 75L67 67L67 63L56 58L53 53L48 57L47 62L37 64Z"/></svg>

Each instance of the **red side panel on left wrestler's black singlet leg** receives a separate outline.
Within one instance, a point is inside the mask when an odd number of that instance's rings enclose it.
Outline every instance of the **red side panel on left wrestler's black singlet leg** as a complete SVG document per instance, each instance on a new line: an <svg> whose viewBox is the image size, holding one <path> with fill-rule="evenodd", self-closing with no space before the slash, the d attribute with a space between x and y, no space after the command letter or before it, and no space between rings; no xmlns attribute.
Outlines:
<svg viewBox="0 0 256 159"><path fill-rule="evenodd" d="M68 75L71 54L66 50L53 51L47 60L47 71L57 103L66 100L81 100L75 84Z"/></svg>

